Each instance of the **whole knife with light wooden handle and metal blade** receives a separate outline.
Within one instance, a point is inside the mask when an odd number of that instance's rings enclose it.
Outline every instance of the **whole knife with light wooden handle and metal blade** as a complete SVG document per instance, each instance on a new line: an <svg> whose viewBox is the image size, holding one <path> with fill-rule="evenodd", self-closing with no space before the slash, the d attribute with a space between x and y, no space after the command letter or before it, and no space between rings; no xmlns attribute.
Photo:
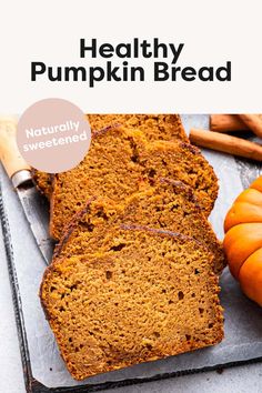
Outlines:
<svg viewBox="0 0 262 393"><path fill-rule="evenodd" d="M0 118L1 162L18 193L44 262L49 264L54 246L54 242L49 235L49 204L33 183L30 167L18 150L16 133L16 118Z"/></svg>

